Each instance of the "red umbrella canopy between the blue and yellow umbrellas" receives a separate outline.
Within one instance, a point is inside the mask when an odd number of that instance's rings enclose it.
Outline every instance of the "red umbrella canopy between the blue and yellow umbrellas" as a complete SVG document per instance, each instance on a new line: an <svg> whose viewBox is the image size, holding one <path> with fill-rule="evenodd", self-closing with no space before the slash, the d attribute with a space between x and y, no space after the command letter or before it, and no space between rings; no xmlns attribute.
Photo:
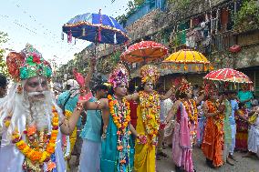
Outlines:
<svg viewBox="0 0 259 172"><path fill-rule="evenodd" d="M123 61L136 62L150 62L167 55L168 49L159 43L153 41L141 41L136 43L122 53L120 58Z"/></svg>

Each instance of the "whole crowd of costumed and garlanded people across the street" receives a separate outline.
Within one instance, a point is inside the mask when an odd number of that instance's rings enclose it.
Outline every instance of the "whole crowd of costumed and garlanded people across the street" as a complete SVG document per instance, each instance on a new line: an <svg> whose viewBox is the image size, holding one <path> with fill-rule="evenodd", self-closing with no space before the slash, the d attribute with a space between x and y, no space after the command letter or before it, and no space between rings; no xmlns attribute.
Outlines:
<svg viewBox="0 0 259 172"><path fill-rule="evenodd" d="M135 90L119 64L109 86L90 87L91 59L88 75L75 69L57 96L51 67L33 46L6 59L14 84L6 95L0 75L0 171L65 172L75 154L80 172L155 172L169 158L166 146L176 171L195 171L193 147L212 168L234 166L235 150L259 156L259 106L246 85L237 93L213 83L192 87L182 77L165 92L158 68L145 65Z"/></svg>

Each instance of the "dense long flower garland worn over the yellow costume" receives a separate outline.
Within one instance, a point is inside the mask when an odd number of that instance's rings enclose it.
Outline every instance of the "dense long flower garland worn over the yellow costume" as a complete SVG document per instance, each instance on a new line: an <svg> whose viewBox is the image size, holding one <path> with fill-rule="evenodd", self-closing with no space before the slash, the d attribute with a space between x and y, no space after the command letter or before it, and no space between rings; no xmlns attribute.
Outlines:
<svg viewBox="0 0 259 172"><path fill-rule="evenodd" d="M160 97L156 91L148 94L144 91L139 92L140 108L146 132L148 133L153 145L158 143L158 133L160 128Z"/></svg>

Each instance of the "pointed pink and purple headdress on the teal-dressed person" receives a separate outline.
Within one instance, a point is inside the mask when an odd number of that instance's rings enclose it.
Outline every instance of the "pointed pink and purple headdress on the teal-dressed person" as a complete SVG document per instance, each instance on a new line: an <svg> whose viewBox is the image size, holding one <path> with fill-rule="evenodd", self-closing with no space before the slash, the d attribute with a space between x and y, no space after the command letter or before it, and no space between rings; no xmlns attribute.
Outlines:
<svg viewBox="0 0 259 172"><path fill-rule="evenodd" d="M121 83L129 85L129 72L127 68L119 64L116 66L109 76L109 84L114 88L119 86Z"/></svg>

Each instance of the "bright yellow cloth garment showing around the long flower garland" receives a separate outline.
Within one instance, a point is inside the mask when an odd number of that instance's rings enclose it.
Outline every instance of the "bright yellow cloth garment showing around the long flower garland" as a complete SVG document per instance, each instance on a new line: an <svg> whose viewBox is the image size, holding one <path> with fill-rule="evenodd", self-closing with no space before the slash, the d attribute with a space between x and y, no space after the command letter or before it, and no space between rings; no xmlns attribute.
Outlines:
<svg viewBox="0 0 259 172"><path fill-rule="evenodd" d="M140 106L137 108L137 126L136 130L140 135L146 135L145 126L143 124ZM148 137L147 144L141 145L136 141L135 144L135 157L134 157L134 170L136 172L155 172L155 154L156 147L152 145L150 138Z"/></svg>

